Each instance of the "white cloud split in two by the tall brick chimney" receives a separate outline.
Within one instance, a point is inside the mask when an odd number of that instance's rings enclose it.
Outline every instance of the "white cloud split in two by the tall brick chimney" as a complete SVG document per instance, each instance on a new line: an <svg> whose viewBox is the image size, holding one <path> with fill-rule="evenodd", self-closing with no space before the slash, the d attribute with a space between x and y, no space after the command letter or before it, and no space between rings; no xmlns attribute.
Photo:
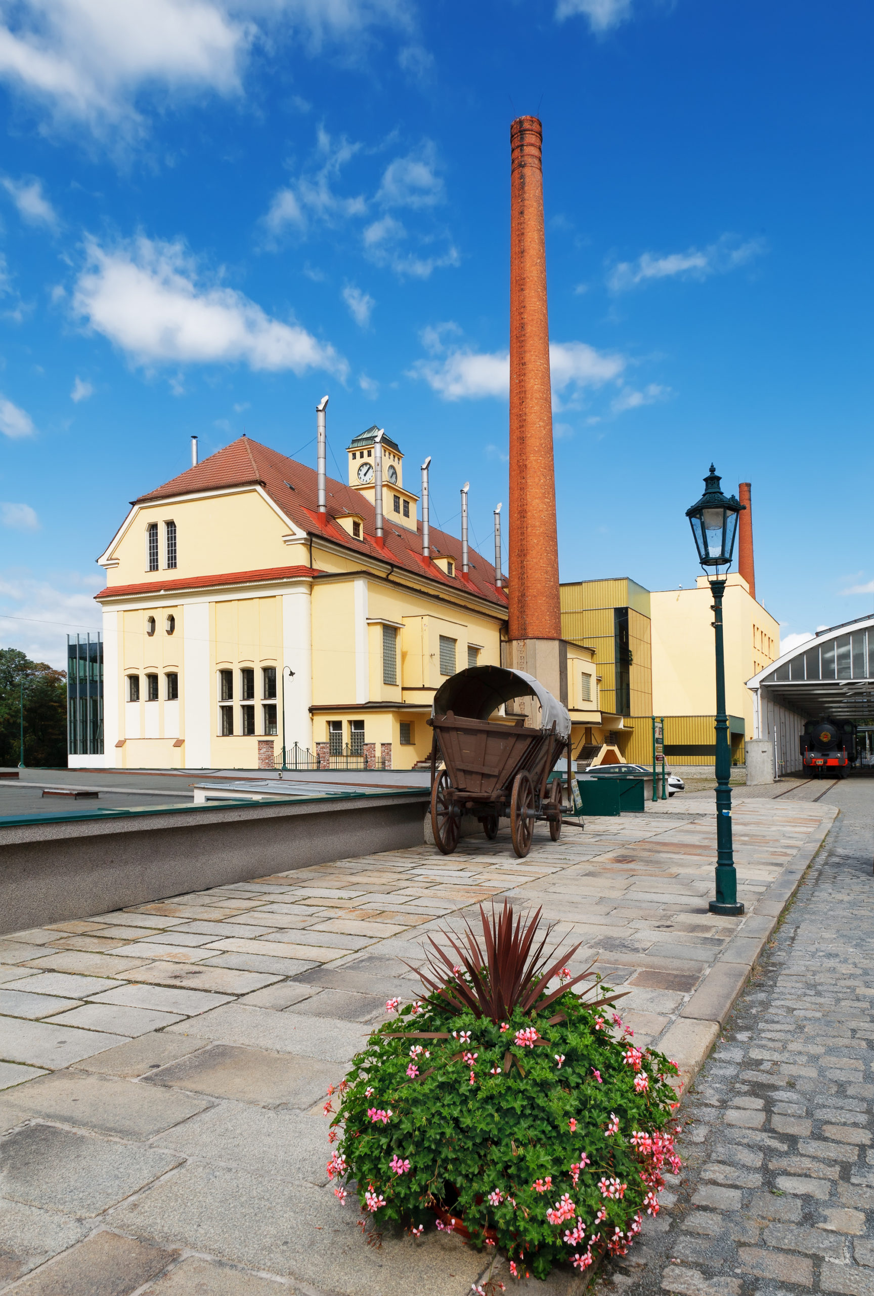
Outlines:
<svg viewBox="0 0 874 1296"><path fill-rule="evenodd" d="M445 325L443 325L445 328ZM434 338L429 338L434 347ZM439 336L436 346L439 346ZM550 342L549 367L553 394L577 393L619 378L627 360L622 355L597 351L587 342ZM508 351L476 353L453 347L439 359L418 360L412 377L425 378L444 400L499 397L510 390L510 355Z"/></svg>

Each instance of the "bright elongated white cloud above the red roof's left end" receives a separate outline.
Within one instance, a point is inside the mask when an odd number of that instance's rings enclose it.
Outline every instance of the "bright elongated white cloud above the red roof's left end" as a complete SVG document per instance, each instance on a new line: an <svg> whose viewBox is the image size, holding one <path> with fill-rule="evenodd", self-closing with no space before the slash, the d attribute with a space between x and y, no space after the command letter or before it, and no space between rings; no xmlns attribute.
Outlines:
<svg viewBox="0 0 874 1296"><path fill-rule="evenodd" d="M299 324L272 319L242 293L202 283L180 242L136 238L111 250L93 240L74 310L133 362L326 369L346 377L333 346Z"/></svg>

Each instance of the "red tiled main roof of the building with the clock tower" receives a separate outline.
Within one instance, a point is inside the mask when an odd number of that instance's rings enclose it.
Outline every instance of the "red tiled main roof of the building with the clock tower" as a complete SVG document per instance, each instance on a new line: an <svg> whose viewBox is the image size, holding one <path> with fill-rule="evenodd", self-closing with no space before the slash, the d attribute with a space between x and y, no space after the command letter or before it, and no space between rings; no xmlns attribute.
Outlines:
<svg viewBox="0 0 874 1296"><path fill-rule="evenodd" d="M470 594L476 594L497 607L506 608L505 591L495 586L495 568L482 553L470 550L470 573L469 578L462 581L461 540L432 526L431 553L453 559L458 572L457 577L445 575L434 562L426 564L422 559L421 521L417 524L417 531L410 531L403 526L394 526L390 513L386 513L383 518L383 544L377 544L373 504L360 491L352 490L331 477L328 478L329 521L322 526L317 515L317 474L315 469L307 468L306 464L299 464L294 459L287 459L277 450L262 446L260 442L249 437L233 441L224 450L210 455L208 459L180 473L179 477L174 477L172 481L158 486L157 490L149 491L146 495L140 495L133 503L148 504L153 500L171 499L175 495L250 485L260 485L282 512L309 535L325 535L352 553L382 562L392 562L395 566L414 572L420 577L425 575L444 587L466 588ZM365 534L361 540L352 539L348 531L334 521L346 513L357 513L359 517L364 518ZM216 578L203 578L203 581L207 584L219 583ZM109 592L115 592L117 588L110 586ZM170 586L162 583L159 588L166 590ZM104 591L104 596L106 592Z"/></svg>

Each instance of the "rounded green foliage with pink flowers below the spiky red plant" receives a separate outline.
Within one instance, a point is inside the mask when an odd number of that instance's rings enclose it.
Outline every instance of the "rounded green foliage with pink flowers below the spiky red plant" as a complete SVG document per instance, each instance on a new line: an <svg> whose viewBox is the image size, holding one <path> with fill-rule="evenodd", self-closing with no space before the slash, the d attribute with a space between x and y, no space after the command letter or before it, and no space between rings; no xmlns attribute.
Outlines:
<svg viewBox="0 0 874 1296"><path fill-rule="evenodd" d="M537 1016L544 1003L495 1023L432 995L370 1037L341 1086L329 1163L357 1185L364 1227L464 1220L519 1277L624 1255L658 1210L663 1163L680 1168L677 1068L618 1036L620 1019L598 1003L566 989Z"/></svg>

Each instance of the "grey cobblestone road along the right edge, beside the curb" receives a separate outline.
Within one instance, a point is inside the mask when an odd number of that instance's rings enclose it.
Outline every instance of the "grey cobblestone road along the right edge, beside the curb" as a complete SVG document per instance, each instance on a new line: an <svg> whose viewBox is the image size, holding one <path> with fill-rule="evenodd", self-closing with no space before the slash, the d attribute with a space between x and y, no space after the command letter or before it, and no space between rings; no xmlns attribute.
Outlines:
<svg viewBox="0 0 874 1296"><path fill-rule="evenodd" d="M874 1296L874 781L842 815L682 1104L681 1182L596 1296Z"/></svg>

